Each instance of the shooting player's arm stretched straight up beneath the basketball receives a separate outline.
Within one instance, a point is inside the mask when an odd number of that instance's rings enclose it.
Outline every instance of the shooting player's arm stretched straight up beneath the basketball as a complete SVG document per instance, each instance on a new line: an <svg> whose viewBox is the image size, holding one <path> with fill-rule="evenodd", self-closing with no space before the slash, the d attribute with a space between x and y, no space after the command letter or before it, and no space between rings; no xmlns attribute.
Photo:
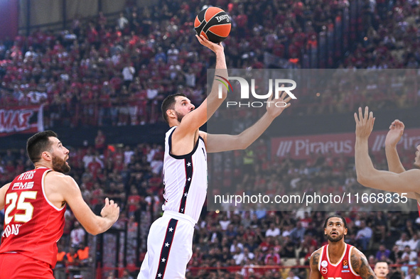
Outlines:
<svg viewBox="0 0 420 279"><path fill-rule="evenodd" d="M204 38L203 35L198 38L198 41L205 45L206 47L210 48L215 55L216 55L216 69L215 75L223 77L227 79L227 68L226 68L226 59L225 59L225 51L221 43L212 43L210 40ZM227 88L222 86L222 96L219 97L219 84L221 82L217 81L220 80L220 77L215 77L213 80L212 89L208 97L203 101L197 109L194 109L190 113L186 114L181 124L176 128L176 133L181 137L188 133L193 133L198 130L201 126L205 124L205 122L210 119L210 117L215 113L217 108L222 104L222 102L227 97Z"/></svg>

